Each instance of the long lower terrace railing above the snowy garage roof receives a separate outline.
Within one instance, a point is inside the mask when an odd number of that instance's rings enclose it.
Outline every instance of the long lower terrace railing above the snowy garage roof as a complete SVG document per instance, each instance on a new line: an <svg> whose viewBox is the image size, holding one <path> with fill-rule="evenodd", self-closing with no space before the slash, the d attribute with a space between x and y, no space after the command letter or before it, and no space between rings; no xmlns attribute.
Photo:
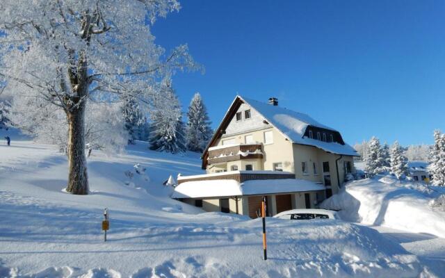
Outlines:
<svg viewBox="0 0 445 278"><path fill-rule="evenodd" d="M279 171L230 171L213 174L197 174L195 176L183 176L178 178L178 184L186 181L214 181L234 179L238 183L257 179L295 179L291 172Z"/></svg>

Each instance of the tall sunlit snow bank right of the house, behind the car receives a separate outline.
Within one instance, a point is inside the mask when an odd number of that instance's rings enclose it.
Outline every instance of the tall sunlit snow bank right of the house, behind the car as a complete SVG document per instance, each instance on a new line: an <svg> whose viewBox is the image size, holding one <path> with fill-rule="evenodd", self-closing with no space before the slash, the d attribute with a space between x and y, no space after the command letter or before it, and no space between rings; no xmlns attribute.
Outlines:
<svg viewBox="0 0 445 278"><path fill-rule="evenodd" d="M339 215L344 220L445 238L445 213L429 205L445 191L443 188L435 190L421 183L363 179L348 183L341 193L325 200L321 207L341 210Z"/></svg>

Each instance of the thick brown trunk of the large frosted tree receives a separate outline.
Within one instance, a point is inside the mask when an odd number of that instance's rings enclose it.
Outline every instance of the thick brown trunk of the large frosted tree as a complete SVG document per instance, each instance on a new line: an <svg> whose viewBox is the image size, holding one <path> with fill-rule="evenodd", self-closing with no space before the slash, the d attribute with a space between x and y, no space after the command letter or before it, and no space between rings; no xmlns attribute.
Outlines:
<svg viewBox="0 0 445 278"><path fill-rule="evenodd" d="M68 185L67 192L88 194L88 174L85 156L85 108L81 101L78 108L67 112L68 120Z"/></svg>

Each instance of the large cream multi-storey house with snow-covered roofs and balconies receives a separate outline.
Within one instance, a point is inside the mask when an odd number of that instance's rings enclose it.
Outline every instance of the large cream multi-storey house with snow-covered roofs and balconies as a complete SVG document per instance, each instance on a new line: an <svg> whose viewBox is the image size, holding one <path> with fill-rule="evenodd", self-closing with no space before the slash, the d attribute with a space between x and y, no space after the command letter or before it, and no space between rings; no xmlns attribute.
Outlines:
<svg viewBox="0 0 445 278"><path fill-rule="evenodd" d="M206 211L256 218L314 208L336 194L358 156L339 131L312 117L237 96L202 154L207 174L178 177L172 195Z"/></svg>

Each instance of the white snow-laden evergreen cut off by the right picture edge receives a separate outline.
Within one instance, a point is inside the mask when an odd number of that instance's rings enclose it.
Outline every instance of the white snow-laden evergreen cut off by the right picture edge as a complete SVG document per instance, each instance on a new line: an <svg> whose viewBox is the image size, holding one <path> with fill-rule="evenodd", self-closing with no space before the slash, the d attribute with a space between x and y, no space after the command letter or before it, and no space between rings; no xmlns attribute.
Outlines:
<svg viewBox="0 0 445 278"><path fill-rule="evenodd" d="M445 135L438 130L434 132L428 170L432 174L432 184L445 186Z"/></svg>

